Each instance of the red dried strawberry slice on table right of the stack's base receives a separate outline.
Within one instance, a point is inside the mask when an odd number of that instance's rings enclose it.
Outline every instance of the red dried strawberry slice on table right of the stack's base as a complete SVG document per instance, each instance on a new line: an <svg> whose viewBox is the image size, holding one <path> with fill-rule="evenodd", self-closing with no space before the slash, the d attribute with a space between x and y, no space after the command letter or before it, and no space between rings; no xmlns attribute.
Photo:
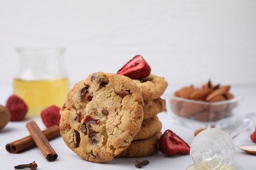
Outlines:
<svg viewBox="0 0 256 170"><path fill-rule="evenodd" d="M163 154L189 154L190 146L171 130L166 130L160 137L159 150Z"/></svg>

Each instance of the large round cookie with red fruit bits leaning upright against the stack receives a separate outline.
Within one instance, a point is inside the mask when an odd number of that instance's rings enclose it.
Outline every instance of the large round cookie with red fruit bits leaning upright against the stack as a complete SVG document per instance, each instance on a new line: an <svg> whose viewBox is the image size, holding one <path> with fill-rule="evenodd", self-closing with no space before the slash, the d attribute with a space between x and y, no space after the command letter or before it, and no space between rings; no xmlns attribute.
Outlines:
<svg viewBox="0 0 256 170"><path fill-rule="evenodd" d="M93 73L68 92L60 110L60 133L84 160L111 161L139 131L142 106L142 95L131 78Z"/></svg>

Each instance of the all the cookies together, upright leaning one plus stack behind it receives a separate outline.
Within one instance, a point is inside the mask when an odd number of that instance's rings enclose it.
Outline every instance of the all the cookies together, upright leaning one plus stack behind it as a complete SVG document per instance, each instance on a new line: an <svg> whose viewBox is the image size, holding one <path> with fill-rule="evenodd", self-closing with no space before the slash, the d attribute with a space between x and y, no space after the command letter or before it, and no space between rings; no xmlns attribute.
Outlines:
<svg viewBox="0 0 256 170"><path fill-rule="evenodd" d="M165 110L164 78L142 80L97 72L77 82L60 110L60 134L87 161L142 157L156 153Z"/></svg>

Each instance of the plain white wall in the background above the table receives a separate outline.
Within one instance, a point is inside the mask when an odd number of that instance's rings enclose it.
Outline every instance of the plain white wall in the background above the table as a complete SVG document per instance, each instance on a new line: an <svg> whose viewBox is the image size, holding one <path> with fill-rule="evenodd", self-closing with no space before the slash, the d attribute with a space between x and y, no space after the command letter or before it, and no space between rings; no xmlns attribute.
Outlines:
<svg viewBox="0 0 256 170"><path fill-rule="evenodd" d="M65 47L72 83L136 54L172 84L256 84L256 1L0 0L0 83L22 47Z"/></svg>

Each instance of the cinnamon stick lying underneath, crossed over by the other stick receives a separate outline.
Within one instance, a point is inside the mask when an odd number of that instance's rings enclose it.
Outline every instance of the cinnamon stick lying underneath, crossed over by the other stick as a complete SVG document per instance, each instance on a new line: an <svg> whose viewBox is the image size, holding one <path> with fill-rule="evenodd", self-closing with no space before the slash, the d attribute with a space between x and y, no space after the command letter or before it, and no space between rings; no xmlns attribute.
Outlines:
<svg viewBox="0 0 256 170"><path fill-rule="evenodd" d="M60 127L55 125L51 126L43 131L43 134L48 140L54 139L60 135ZM17 154L22 151L28 150L35 146L35 142L32 137L29 135L27 137L23 137L22 139L18 139L17 141L13 141L5 145L5 149L11 154Z"/></svg>

